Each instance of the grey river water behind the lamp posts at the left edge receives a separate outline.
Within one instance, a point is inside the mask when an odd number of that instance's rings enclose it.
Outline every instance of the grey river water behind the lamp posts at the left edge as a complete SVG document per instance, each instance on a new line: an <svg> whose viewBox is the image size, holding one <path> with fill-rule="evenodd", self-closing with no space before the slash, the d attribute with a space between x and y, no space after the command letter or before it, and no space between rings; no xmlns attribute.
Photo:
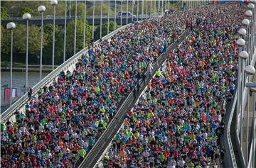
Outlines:
<svg viewBox="0 0 256 168"><path fill-rule="evenodd" d="M42 78L46 77L48 73L42 73ZM40 81L39 72L28 72L28 86L34 86ZM13 88L17 88L17 96L23 96L25 91L24 85L26 83L26 73L25 72L13 72ZM10 72L1 72L1 105L6 103L4 101L4 84L10 86Z"/></svg>

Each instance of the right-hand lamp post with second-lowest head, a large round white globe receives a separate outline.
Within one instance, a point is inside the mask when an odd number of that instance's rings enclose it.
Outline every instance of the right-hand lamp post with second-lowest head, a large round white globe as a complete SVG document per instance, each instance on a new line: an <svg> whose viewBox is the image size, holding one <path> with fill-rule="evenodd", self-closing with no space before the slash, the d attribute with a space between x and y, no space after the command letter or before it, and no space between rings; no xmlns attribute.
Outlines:
<svg viewBox="0 0 256 168"><path fill-rule="evenodd" d="M247 67L245 67L245 73L248 75L253 75L255 74L255 68L252 67L252 65L248 65ZM250 89L248 89L247 91L247 113L246 113L246 147L245 147L245 154L246 154L246 167L248 167L248 159L249 159L249 155L248 155L248 147L249 147L249 111L250 111Z"/></svg>

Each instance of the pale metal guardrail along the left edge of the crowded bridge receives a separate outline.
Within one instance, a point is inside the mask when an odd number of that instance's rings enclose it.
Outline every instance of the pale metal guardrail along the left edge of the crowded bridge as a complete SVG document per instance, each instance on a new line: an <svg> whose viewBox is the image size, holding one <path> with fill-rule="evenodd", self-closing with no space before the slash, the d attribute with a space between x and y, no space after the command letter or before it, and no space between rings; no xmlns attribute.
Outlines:
<svg viewBox="0 0 256 168"><path fill-rule="evenodd" d="M114 30L112 33L105 35L104 38L102 38L102 40L105 40L107 38L110 38L112 35L114 35L114 33L117 33L119 30L122 30L124 28L126 28L127 26L130 26L132 23L122 26L121 28L118 28L117 30ZM95 42L95 44L100 44L100 40L97 40ZM53 72L50 72L50 74L48 74L46 77L44 77L41 82L38 82L38 84L36 84L35 86L33 86L33 93L32 95L36 94L38 89L40 89L42 86L49 84L50 82L53 82L53 80L55 79L55 77L58 77L58 74L60 73L60 71L68 69L68 67L70 67L71 65L75 64L75 62L78 62L78 60L80 59L80 57L82 56L82 54L85 54L88 52L88 48L85 47L84 49L80 50L80 52L76 53L75 55L73 55L73 57L70 57L70 59L66 60L65 62L63 62L62 65L58 66L56 69L53 70ZM25 105L26 101L28 101L28 94L24 94L23 96L21 96L20 99L18 99L18 101L16 101L11 107L7 108L6 111L4 111L4 113L1 113L1 122L6 122L8 118L11 117L11 115L14 113L14 111L17 108L21 108L22 106Z"/></svg>

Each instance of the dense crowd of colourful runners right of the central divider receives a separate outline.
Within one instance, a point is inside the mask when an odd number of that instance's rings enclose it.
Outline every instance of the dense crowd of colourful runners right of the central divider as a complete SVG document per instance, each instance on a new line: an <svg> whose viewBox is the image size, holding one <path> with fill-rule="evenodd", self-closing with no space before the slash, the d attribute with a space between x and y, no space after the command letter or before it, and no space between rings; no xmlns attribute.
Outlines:
<svg viewBox="0 0 256 168"><path fill-rule="evenodd" d="M242 8L195 10L208 17L156 71L114 136L103 167L202 168L222 162L220 137L235 90Z"/></svg>

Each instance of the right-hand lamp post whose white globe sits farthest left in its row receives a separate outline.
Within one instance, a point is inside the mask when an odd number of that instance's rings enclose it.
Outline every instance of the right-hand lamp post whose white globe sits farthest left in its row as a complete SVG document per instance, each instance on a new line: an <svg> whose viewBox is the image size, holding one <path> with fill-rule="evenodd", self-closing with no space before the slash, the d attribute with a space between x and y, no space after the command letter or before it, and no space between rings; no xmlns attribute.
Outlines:
<svg viewBox="0 0 256 168"><path fill-rule="evenodd" d="M245 40L243 40L242 38L239 38L237 41L236 41L236 44L239 46L239 47L243 47L245 46ZM241 52L241 49L239 48L240 52ZM242 56L242 55L241 55ZM240 57L240 54L239 54L239 57L238 57L238 106L237 106L237 121L238 121L238 116L240 114L240 118L242 118L242 111L240 113L240 108L241 108L241 66L242 66L242 63L241 63L241 59L242 57ZM242 123L240 123L241 125ZM238 125L237 125L238 126ZM240 128L241 130L241 128ZM240 140L240 145L242 145L242 141Z"/></svg>

